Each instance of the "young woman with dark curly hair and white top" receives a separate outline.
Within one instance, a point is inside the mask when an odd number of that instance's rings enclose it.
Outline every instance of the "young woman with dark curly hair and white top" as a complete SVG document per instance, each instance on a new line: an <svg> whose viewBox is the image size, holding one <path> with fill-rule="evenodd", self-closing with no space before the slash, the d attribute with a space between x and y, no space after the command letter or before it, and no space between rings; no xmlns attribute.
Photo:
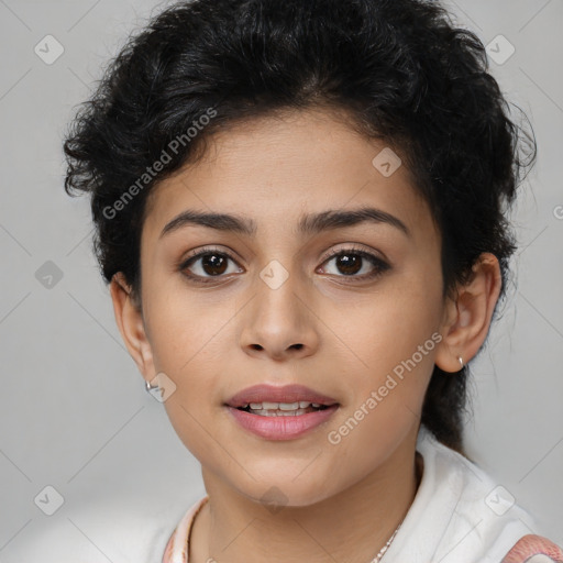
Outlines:
<svg viewBox="0 0 563 563"><path fill-rule="evenodd" d="M463 451L534 144L435 1L172 5L65 151L201 463L164 563L563 562Z"/></svg>

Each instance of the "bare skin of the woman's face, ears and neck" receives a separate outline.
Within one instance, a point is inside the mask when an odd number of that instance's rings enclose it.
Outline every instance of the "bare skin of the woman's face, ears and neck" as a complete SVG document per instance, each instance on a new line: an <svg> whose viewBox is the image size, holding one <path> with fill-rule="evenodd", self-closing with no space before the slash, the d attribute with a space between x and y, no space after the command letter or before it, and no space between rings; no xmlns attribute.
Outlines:
<svg viewBox="0 0 563 563"><path fill-rule="evenodd" d="M328 110L255 119L211 141L202 161L151 195L141 241L143 314L121 275L110 286L143 377L163 372L175 383L164 405L202 466L210 501L194 525L190 562L371 561L416 495L416 440L433 365L454 377L459 356L468 362L485 341L498 262L483 254L471 283L443 300L441 235L406 166L384 177L372 161L385 143L360 136ZM400 219L410 235L386 223L296 232L303 213L364 206ZM186 209L250 218L256 235L189 225L159 238ZM207 245L234 258L220 280L201 260L180 272L190 252ZM374 266L363 260L346 276L329 251L351 247L390 267L366 279ZM260 276L274 260L289 275L277 289ZM186 272L211 283L194 284ZM328 433L432 334L441 342L330 443ZM340 408L300 438L265 440L223 406L257 383L300 383ZM277 511L261 503L272 487L284 497Z"/></svg>

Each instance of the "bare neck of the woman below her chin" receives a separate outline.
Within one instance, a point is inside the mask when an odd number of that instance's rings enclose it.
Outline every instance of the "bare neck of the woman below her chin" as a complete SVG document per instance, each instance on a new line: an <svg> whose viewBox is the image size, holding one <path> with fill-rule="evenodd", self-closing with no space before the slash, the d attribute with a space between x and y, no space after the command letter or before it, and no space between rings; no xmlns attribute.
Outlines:
<svg viewBox="0 0 563 563"><path fill-rule="evenodd" d="M203 471L209 500L194 522L190 563L369 563L415 499L421 477L415 448L416 437L345 490L279 510L265 509Z"/></svg>

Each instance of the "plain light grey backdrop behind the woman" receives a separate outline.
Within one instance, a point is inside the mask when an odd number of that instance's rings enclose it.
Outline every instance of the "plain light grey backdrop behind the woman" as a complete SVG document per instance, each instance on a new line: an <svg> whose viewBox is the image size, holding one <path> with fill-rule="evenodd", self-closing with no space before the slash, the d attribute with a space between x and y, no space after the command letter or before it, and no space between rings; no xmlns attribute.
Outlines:
<svg viewBox="0 0 563 563"><path fill-rule="evenodd" d="M121 341L90 252L88 201L63 189L76 106L126 34L167 4L0 0L2 563L133 561L123 530L139 547L155 522L159 561L163 534L205 494L199 463ZM485 44L501 34L516 47L492 71L539 144L514 216L517 280L473 363L467 449L563 544L563 1L449 5ZM52 65L34 52L47 34L65 49ZM63 274L51 288L36 275L47 261ZM65 499L53 516L34 503L47 485Z"/></svg>

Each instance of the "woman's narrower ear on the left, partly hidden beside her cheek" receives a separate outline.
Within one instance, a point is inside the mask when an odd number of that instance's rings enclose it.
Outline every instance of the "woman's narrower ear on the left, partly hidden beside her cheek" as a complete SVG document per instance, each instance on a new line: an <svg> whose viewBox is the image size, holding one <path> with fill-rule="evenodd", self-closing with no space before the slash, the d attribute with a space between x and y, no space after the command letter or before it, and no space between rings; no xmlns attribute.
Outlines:
<svg viewBox="0 0 563 563"><path fill-rule="evenodd" d="M143 313L140 305L134 302L131 287L121 272L112 277L110 294L121 338L144 379L152 382L156 372L151 344L146 338Z"/></svg>

